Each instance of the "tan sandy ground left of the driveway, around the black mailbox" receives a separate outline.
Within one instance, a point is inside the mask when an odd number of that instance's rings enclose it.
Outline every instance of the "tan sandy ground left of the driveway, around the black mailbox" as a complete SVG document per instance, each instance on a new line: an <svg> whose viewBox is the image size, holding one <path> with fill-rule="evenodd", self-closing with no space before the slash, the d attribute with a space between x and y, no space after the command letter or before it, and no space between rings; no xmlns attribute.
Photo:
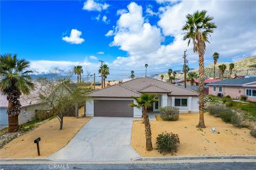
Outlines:
<svg viewBox="0 0 256 170"><path fill-rule="evenodd" d="M31 132L13 139L0 149L1 158L31 158L37 156L37 148L34 140L41 137L39 142L40 157L47 157L65 147L75 134L90 121L90 117L76 118L64 117L63 129L59 130L58 118L41 124Z"/></svg>

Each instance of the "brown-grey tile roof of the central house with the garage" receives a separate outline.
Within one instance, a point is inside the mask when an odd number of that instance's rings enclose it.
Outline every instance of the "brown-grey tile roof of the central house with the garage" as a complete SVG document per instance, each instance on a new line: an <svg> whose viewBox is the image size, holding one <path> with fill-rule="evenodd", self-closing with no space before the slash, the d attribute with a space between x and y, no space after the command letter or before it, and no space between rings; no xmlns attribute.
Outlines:
<svg viewBox="0 0 256 170"><path fill-rule="evenodd" d="M131 97L140 96L140 92L166 93L173 96L197 96L197 92L154 78L135 78L114 86L89 92L90 97Z"/></svg>

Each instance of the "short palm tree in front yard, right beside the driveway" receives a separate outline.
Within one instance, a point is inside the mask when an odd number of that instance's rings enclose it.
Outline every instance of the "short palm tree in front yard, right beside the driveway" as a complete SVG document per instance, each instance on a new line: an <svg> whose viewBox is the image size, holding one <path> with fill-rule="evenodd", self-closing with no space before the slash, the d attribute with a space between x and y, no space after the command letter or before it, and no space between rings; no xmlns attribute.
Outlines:
<svg viewBox="0 0 256 170"><path fill-rule="evenodd" d="M147 114L147 108L152 107L153 103L158 101L155 99L156 95L150 95L150 94L141 94L139 98L132 97L137 104L132 103L131 107L137 107L143 109L143 124L145 124L145 134L146 134L146 149L148 151L153 150L152 147L152 141L151 141L151 128L150 128L150 122Z"/></svg>

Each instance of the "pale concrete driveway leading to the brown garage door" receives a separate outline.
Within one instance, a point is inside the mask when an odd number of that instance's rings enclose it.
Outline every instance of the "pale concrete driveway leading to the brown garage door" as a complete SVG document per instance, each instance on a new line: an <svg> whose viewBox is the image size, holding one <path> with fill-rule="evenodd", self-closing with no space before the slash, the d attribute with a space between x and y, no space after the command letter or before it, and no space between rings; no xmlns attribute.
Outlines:
<svg viewBox="0 0 256 170"><path fill-rule="evenodd" d="M93 117L66 147L49 159L125 161L138 158L140 155L130 146L132 121L130 117Z"/></svg>

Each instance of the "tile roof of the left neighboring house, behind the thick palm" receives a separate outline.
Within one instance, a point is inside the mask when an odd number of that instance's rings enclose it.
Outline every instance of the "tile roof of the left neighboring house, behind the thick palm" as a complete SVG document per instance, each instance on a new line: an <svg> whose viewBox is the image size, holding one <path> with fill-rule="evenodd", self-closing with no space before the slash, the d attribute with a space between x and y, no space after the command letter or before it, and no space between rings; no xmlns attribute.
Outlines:
<svg viewBox="0 0 256 170"><path fill-rule="evenodd" d="M38 87L39 84L35 83L35 86ZM38 88L31 90L29 95L22 94L19 99L21 107L42 103L42 101L38 99L38 94L39 94ZM3 95L1 93L0 93L0 107L8 107L8 100L6 99L6 95Z"/></svg>

